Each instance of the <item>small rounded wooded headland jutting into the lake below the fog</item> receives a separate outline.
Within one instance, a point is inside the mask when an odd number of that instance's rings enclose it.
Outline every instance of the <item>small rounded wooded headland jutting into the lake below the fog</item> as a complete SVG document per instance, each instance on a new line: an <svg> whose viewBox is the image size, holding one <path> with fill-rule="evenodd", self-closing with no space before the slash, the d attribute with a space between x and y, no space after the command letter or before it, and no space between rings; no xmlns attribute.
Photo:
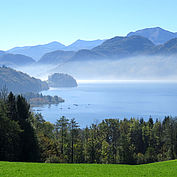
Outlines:
<svg viewBox="0 0 177 177"><path fill-rule="evenodd" d="M54 73L48 77L48 85L50 87L77 87L77 82L68 74Z"/></svg>

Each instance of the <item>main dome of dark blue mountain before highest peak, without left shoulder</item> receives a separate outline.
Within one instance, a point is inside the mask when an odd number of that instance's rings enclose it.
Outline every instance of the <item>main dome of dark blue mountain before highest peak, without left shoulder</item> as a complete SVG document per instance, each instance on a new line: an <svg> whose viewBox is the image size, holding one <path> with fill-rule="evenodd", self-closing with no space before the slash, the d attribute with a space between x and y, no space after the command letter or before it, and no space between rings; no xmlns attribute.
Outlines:
<svg viewBox="0 0 177 177"><path fill-rule="evenodd" d="M154 44L150 40L141 36L117 36L106 40L102 45L92 49L92 51L106 57L121 58L130 55L146 54L153 47Z"/></svg>

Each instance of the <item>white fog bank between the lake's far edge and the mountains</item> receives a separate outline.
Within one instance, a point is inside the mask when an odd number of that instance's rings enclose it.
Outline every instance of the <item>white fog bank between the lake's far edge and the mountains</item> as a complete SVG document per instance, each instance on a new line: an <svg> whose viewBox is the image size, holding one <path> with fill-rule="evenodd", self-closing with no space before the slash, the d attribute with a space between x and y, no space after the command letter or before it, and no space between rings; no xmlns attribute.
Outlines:
<svg viewBox="0 0 177 177"><path fill-rule="evenodd" d="M31 76L47 80L61 72L84 80L177 80L177 57L139 56L119 60L76 61L59 65L33 65L16 68Z"/></svg>

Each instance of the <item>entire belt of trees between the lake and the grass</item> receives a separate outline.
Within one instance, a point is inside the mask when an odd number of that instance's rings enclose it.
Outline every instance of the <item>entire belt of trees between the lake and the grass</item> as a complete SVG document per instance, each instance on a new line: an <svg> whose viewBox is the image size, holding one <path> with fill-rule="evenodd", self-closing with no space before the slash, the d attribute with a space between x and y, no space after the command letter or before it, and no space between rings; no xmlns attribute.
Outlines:
<svg viewBox="0 0 177 177"><path fill-rule="evenodd" d="M177 158L177 119L105 119L81 129L34 115L21 95L0 94L0 161L143 164Z"/></svg>

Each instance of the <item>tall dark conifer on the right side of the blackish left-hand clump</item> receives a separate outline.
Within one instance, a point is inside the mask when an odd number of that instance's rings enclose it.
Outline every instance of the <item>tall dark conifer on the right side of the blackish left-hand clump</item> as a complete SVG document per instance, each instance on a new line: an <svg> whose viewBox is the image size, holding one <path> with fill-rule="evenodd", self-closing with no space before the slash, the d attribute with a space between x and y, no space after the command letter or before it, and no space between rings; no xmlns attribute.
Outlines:
<svg viewBox="0 0 177 177"><path fill-rule="evenodd" d="M26 99L17 96L17 119L20 128L23 130L21 133L21 156L20 161L38 161L39 148L35 131L32 127L32 114L30 112L30 105Z"/></svg>

